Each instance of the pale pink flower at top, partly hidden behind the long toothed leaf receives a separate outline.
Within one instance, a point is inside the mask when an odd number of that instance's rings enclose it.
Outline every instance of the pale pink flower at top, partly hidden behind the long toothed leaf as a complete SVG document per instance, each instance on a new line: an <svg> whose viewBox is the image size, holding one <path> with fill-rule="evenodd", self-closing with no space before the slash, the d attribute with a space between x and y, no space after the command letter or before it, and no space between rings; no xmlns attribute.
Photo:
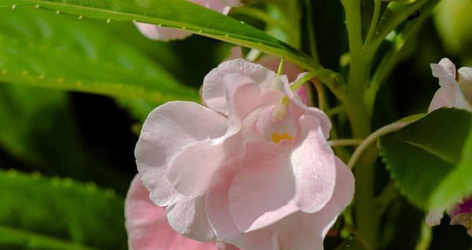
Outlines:
<svg viewBox="0 0 472 250"><path fill-rule="evenodd" d="M223 14L228 14L230 12L230 6L237 6L240 4L239 0L227 0L228 3L225 3L223 0L189 0L194 4L199 4L206 8L211 8L213 11L218 11ZM160 41L169 41L175 39L185 39L191 35L190 32L183 32L180 29L159 27L158 25L150 25L147 23L136 23L137 29L139 32L144 34L145 37L153 40Z"/></svg>

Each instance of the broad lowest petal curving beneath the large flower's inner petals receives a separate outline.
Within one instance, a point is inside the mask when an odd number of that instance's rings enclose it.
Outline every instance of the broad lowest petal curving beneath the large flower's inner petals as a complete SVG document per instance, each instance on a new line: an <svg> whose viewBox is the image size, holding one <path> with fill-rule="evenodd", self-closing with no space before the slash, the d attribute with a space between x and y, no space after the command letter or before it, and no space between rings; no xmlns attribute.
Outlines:
<svg viewBox="0 0 472 250"><path fill-rule="evenodd" d="M228 162L211 181L206 209L216 235L240 249L323 249L323 238L354 195L354 176L347 166L336 159L335 192L321 211L292 213L266 228L240 232L230 216L227 195L232 179L240 170L239 164L237 160Z"/></svg>

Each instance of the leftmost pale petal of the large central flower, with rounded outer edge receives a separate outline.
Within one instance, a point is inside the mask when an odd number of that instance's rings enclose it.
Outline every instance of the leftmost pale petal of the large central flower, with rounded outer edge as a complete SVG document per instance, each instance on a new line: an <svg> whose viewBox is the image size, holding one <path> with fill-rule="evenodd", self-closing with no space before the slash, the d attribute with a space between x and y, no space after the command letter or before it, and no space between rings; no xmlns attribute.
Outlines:
<svg viewBox="0 0 472 250"><path fill-rule="evenodd" d="M190 102L157 107L144 122L135 149L137 169L151 191L151 199L168 205L177 193L167 180L168 162L183 146L222 136L228 119Z"/></svg>

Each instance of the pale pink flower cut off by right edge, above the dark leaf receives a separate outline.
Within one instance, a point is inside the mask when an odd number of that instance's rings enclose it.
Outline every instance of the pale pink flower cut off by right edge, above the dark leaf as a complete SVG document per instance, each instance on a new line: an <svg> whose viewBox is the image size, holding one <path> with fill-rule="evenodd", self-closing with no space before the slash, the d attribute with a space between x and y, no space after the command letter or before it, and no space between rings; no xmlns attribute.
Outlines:
<svg viewBox="0 0 472 250"><path fill-rule="evenodd" d="M456 74L456 66L443 58L439 64L431 64L433 76L439 79L440 88L435 93L428 112L440 107L457 107L472 110L472 67L461 67Z"/></svg>

